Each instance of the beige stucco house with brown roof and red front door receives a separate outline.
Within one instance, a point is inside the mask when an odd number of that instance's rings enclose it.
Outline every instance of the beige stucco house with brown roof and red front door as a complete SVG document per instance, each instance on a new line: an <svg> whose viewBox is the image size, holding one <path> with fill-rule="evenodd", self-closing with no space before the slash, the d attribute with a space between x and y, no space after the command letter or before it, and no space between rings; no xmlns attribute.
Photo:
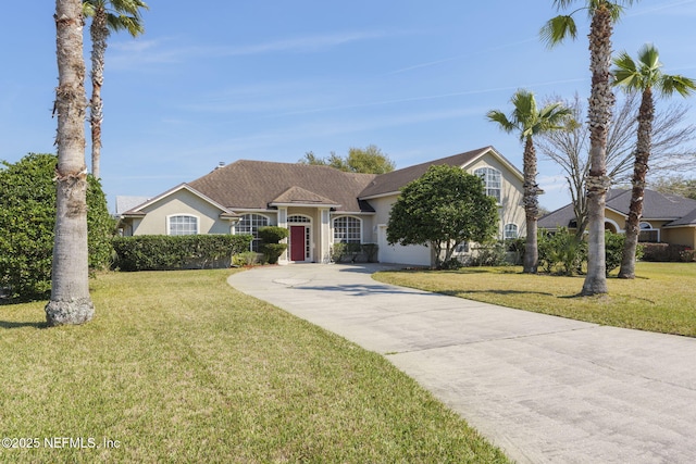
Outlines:
<svg viewBox="0 0 696 464"><path fill-rule="evenodd" d="M400 189L432 165L453 165L484 178L498 201L500 238L524 235L523 177L493 147L387 174L344 173L328 166L236 161L121 214L123 235L251 234L289 229L281 263L328 262L334 243L377 243L380 262L431 265L426 247L389 246L386 224Z"/></svg>

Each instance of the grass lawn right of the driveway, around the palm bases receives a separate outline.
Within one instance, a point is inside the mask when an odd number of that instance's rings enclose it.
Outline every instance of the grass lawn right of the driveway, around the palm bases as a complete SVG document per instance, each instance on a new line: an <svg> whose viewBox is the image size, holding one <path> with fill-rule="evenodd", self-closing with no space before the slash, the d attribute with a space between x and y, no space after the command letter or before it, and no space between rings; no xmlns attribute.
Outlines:
<svg viewBox="0 0 696 464"><path fill-rule="evenodd" d="M521 267L383 272L388 284L602 325L696 337L696 263L637 263L636 279L609 278L609 293L580 297L583 276Z"/></svg>

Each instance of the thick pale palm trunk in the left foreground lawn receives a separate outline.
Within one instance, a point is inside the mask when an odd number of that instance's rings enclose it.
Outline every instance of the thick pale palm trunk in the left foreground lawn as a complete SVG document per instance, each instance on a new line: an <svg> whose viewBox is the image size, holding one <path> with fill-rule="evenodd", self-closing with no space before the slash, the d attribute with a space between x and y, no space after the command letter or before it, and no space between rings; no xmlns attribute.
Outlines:
<svg viewBox="0 0 696 464"><path fill-rule="evenodd" d="M85 60L82 0L55 1L58 166L55 238L49 326L91 319L87 260L87 170L85 167Z"/></svg>

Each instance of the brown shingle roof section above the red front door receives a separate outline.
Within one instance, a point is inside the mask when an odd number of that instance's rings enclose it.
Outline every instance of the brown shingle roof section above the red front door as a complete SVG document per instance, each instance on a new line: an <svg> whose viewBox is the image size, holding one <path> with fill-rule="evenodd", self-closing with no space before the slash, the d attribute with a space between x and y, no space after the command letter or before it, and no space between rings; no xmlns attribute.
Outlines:
<svg viewBox="0 0 696 464"><path fill-rule="evenodd" d="M266 209L274 199L309 196L339 205L338 211L372 212L374 210L365 209L366 205L358 201L358 195L375 177L374 174L344 173L328 166L239 160L189 185L231 210ZM294 187L301 188L304 193Z"/></svg>

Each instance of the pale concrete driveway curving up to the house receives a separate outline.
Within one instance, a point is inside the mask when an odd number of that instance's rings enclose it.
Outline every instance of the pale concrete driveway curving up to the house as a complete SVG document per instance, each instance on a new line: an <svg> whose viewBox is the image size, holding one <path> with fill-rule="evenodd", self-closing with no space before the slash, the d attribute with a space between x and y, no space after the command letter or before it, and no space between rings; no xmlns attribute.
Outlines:
<svg viewBox="0 0 696 464"><path fill-rule="evenodd" d="M520 463L696 462L696 339L389 286L371 278L381 268L228 283L384 354Z"/></svg>

